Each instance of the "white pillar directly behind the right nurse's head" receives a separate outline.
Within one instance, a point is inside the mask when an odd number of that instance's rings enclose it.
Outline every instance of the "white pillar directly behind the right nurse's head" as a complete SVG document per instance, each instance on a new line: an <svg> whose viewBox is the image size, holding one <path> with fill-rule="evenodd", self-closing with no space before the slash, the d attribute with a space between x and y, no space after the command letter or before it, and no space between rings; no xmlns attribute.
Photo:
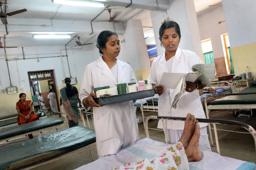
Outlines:
<svg viewBox="0 0 256 170"><path fill-rule="evenodd" d="M165 12L150 12L158 55L164 53L164 48L160 46L159 28L161 22L169 17L169 20L177 22L180 26L179 47L194 51L204 61L194 2L191 0L173 0L170 3L171 7Z"/></svg>

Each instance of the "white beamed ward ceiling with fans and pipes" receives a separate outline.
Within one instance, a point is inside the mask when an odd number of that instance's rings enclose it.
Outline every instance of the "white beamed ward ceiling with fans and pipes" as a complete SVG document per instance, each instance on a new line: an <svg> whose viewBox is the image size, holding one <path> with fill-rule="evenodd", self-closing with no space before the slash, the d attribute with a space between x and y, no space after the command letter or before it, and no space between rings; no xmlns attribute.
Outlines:
<svg viewBox="0 0 256 170"><path fill-rule="evenodd" d="M147 34L153 33L150 11L164 11L171 5L169 0L94 1L94 3L97 2L103 3L105 6L75 6L54 3L52 0L0 0L2 5L0 13L1 42L5 47L68 44L69 47L81 48L82 44L94 43L102 30L113 30L118 34L124 33L124 23L129 19L141 19L144 36L147 37ZM194 4L198 16L220 7L221 0L194 0ZM7 24L4 24L6 22ZM71 35L71 38L33 38L34 35L44 32L65 32Z"/></svg>

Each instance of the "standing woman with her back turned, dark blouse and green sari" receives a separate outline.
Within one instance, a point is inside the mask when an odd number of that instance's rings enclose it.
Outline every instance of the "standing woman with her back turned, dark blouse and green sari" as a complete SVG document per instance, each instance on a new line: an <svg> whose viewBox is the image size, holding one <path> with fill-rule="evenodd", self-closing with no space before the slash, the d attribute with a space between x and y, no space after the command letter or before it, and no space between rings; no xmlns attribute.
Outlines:
<svg viewBox="0 0 256 170"><path fill-rule="evenodd" d="M68 114L69 128L78 125L78 106L81 108L81 101L78 97L78 91L75 86L70 84L70 78L65 78L66 86L60 89L60 106L63 104L66 113Z"/></svg>

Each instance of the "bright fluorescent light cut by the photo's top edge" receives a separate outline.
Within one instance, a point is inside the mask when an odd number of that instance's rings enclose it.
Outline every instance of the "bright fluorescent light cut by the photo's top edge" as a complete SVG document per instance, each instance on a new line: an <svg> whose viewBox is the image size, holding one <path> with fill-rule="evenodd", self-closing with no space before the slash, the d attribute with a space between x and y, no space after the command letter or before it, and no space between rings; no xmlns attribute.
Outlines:
<svg viewBox="0 0 256 170"><path fill-rule="evenodd" d="M78 5L78 6L92 6L92 7L104 7L104 4L86 2L81 0L52 0L53 3L66 4L66 5Z"/></svg>

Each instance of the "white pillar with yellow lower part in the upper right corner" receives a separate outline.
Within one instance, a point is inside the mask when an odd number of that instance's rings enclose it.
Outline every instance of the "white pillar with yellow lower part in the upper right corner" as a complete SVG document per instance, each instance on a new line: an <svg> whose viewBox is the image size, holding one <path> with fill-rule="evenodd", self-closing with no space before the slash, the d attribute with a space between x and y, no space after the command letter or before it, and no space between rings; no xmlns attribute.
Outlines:
<svg viewBox="0 0 256 170"><path fill-rule="evenodd" d="M222 0L234 71L256 74L256 1Z"/></svg>

